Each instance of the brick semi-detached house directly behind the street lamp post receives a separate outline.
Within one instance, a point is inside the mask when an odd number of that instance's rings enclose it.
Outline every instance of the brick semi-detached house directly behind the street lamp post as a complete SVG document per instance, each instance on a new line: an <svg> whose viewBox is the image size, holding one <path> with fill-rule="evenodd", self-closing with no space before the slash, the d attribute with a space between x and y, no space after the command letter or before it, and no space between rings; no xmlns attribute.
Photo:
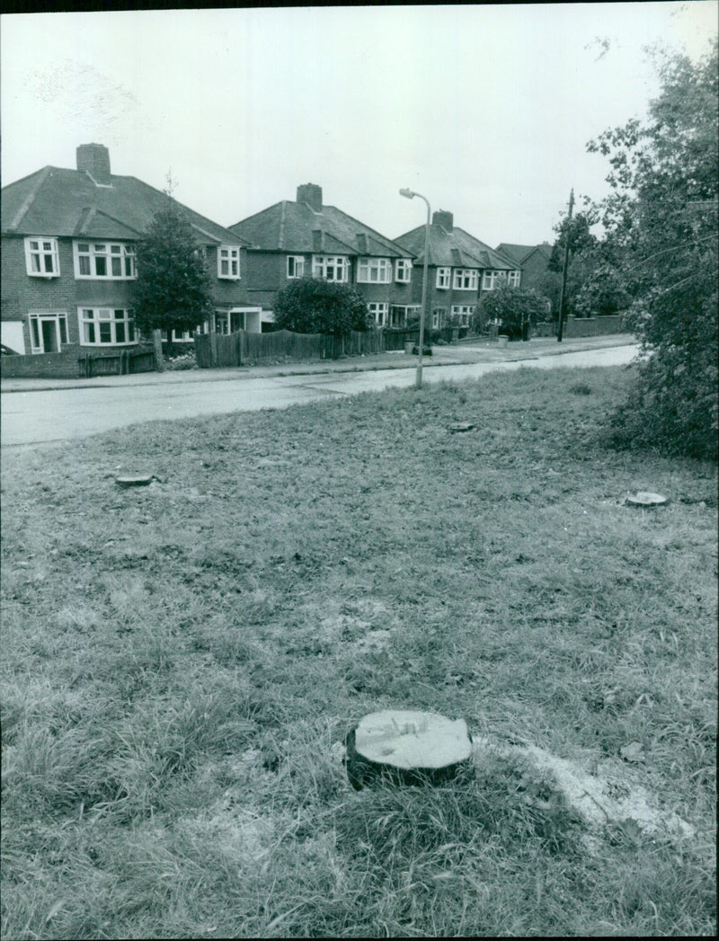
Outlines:
<svg viewBox="0 0 719 941"><path fill-rule="evenodd" d="M405 232L394 241L414 256L414 300L422 298L425 226ZM481 296L506 279L519 286L519 265L455 226L454 215L433 213L427 259L427 327L468 327Z"/></svg>

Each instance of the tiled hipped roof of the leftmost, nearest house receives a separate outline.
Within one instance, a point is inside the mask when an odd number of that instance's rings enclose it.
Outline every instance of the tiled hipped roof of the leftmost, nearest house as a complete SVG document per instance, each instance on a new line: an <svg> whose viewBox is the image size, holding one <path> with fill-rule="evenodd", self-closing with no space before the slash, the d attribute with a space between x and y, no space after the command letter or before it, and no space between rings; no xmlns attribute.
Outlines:
<svg viewBox="0 0 719 941"><path fill-rule="evenodd" d="M9 183L2 191L2 233L141 238L153 215L167 205L167 195L135 177L113 174L110 180L110 185L98 186L84 170L43 167ZM246 244L204 215L181 208L200 244Z"/></svg>

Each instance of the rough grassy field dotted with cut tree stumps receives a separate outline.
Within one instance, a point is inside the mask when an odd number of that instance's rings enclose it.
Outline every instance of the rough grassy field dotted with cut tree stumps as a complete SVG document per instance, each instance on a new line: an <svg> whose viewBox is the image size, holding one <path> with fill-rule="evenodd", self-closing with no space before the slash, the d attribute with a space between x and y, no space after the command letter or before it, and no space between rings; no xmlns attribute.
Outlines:
<svg viewBox="0 0 719 941"><path fill-rule="evenodd" d="M713 934L716 467L605 448L628 381L8 451L2 936ZM499 752L355 792L344 735L388 707L611 766L695 836L607 820L588 848Z"/></svg>

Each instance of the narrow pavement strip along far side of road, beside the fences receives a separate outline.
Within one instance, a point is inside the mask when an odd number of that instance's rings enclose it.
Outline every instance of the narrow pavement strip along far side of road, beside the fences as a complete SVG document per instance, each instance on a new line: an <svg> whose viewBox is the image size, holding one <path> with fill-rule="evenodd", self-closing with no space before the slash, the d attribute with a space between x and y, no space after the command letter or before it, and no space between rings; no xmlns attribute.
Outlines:
<svg viewBox="0 0 719 941"><path fill-rule="evenodd" d="M585 350L629 346L636 340L629 333L604 337L577 337L557 343L555 337L535 337L532 340L507 343L500 346L491 341L459 342L432 347L432 356L423 357L423 369L435 366L458 366L482 362L518 362L543 359ZM331 373L361 373L385 369L415 369L417 357L404 351L377 353L370 356L342 359L283 361L258 366L234 366L223 369L166 370L163 373L136 373L134 375L104 375L92 379L56 378L0 378L0 392L48 391L57 389L112 389L124 386L164 386L185 382L226 382L228 379L254 379L263 376L315 375Z"/></svg>

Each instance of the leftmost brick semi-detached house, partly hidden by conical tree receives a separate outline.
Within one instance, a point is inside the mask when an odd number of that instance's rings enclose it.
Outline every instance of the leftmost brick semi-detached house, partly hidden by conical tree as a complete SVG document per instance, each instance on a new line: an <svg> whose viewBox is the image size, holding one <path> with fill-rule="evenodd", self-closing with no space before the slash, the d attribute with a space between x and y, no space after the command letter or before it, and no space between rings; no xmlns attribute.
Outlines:
<svg viewBox="0 0 719 941"><path fill-rule="evenodd" d="M15 353L65 354L75 368L88 353L136 348L136 244L167 200L135 177L112 173L102 144L78 147L75 169L43 167L3 187L2 343ZM212 279L215 314L205 327L259 332L245 242L183 209ZM190 338L173 331L170 339Z"/></svg>

